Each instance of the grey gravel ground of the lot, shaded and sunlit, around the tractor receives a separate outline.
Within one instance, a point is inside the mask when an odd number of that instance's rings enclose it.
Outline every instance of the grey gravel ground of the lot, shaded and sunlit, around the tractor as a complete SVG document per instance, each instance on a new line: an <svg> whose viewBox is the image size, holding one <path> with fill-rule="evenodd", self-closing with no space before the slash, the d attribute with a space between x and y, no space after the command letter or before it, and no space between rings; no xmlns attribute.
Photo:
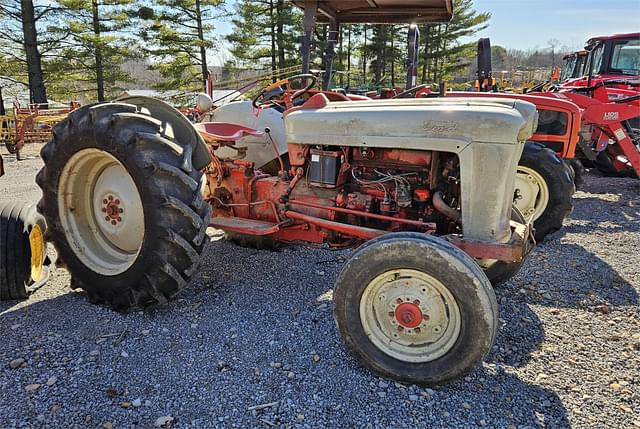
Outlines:
<svg viewBox="0 0 640 429"><path fill-rule="evenodd" d="M40 164L6 162L1 198L37 200ZM151 312L91 305L61 269L0 303L0 427L640 427L640 181L584 189L497 290L496 346L464 380L418 388L356 364L331 302L348 251L213 237L192 284Z"/></svg>

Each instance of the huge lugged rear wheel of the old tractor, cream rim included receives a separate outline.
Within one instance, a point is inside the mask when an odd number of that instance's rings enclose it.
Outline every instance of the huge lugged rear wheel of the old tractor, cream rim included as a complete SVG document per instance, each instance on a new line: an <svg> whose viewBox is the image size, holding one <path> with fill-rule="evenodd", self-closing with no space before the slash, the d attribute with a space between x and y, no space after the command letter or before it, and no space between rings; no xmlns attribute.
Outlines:
<svg viewBox="0 0 640 429"><path fill-rule="evenodd" d="M163 303L193 276L210 207L189 142L134 105L72 112L42 149L38 209L71 286L117 310Z"/></svg>

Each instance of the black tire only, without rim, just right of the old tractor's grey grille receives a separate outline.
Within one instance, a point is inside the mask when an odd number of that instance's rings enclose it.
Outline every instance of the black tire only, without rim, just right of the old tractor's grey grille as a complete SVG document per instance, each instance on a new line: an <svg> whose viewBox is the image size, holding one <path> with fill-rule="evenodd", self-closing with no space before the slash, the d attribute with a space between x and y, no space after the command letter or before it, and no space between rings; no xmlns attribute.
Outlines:
<svg viewBox="0 0 640 429"><path fill-rule="evenodd" d="M533 224L536 241L541 243L547 235L562 228L562 222L573 210L575 185L564 161L540 143L527 142L518 165L538 172L549 188L547 207Z"/></svg>

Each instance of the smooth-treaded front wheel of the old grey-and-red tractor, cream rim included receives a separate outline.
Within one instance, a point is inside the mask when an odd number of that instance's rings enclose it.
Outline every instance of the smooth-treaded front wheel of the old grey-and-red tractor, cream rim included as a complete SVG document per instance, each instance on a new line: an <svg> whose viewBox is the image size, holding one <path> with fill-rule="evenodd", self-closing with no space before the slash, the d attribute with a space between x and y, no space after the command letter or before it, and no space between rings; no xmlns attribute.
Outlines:
<svg viewBox="0 0 640 429"><path fill-rule="evenodd" d="M395 380L434 385L461 377L491 349L498 305L466 253L419 233L365 243L334 289L335 319L357 360Z"/></svg>

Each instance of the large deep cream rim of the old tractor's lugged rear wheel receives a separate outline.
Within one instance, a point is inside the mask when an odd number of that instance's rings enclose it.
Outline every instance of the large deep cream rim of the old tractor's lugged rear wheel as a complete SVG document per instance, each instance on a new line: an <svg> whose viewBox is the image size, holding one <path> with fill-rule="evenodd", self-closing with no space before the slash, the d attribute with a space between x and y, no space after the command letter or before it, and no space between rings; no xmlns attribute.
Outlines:
<svg viewBox="0 0 640 429"><path fill-rule="evenodd" d="M58 210L67 242L94 272L133 265L144 240L144 210L124 165L99 149L74 154L60 175Z"/></svg>

